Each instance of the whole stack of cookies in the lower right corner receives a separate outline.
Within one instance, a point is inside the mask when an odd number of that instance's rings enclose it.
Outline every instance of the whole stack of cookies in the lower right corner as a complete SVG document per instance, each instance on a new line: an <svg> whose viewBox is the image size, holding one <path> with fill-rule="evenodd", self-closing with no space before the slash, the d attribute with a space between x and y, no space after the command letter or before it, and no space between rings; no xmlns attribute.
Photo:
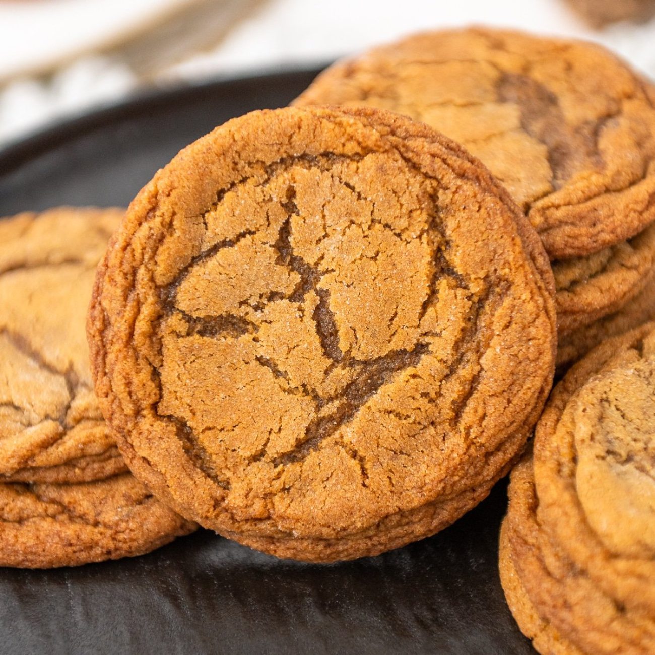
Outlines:
<svg viewBox="0 0 655 655"><path fill-rule="evenodd" d="M512 472L500 574L542 653L655 652L655 324L555 388Z"/></svg>

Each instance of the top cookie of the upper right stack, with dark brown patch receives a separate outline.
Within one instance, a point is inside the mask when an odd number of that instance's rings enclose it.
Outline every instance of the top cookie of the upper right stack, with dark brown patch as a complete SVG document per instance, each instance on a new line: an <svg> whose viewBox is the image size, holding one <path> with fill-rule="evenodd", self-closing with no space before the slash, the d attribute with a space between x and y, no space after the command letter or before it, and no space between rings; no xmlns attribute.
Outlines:
<svg viewBox="0 0 655 655"><path fill-rule="evenodd" d="M493 29L414 35L337 63L295 101L368 105L462 143L504 183L551 259L655 219L652 92L596 45Z"/></svg>

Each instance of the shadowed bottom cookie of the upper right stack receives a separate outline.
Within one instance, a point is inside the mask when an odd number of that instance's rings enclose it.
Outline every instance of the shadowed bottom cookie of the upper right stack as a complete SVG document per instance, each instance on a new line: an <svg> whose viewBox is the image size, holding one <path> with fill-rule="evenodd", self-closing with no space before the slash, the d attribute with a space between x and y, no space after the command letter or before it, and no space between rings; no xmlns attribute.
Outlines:
<svg viewBox="0 0 655 655"><path fill-rule="evenodd" d="M559 337L557 375L563 374L571 364L605 339L616 337L652 320L655 320L655 271L646 278L639 294L617 312Z"/></svg>

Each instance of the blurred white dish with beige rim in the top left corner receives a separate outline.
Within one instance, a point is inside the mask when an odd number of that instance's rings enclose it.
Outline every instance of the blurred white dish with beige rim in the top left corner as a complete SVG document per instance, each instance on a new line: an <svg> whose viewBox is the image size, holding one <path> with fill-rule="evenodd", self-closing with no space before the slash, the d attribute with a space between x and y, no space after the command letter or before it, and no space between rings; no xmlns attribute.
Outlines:
<svg viewBox="0 0 655 655"><path fill-rule="evenodd" d="M0 2L0 81L44 77L83 56L107 56L137 76L203 50L265 0ZM29 31L28 43L21 37Z"/></svg>

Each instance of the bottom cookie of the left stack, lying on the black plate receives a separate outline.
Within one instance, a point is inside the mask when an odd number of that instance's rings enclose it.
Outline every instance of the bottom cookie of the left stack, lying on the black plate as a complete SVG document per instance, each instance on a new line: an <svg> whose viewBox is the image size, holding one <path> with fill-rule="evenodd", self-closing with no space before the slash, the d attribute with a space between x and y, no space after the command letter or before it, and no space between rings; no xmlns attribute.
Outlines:
<svg viewBox="0 0 655 655"><path fill-rule="evenodd" d="M0 484L0 567L133 557L195 528L129 473L77 484Z"/></svg>

